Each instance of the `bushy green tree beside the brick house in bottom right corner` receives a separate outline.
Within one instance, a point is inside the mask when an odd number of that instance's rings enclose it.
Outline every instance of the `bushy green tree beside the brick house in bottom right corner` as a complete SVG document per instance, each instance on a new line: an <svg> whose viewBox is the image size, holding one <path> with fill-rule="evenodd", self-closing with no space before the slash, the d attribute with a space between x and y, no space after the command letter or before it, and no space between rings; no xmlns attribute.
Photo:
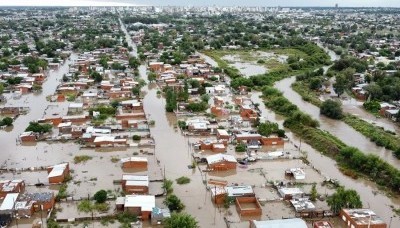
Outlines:
<svg viewBox="0 0 400 228"><path fill-rule="evenodd" d="M342 208L362 208L358 193L353 189L345 190L343 187L339 187L333 195L329 196L327 203L335 214Z"/></svg>

